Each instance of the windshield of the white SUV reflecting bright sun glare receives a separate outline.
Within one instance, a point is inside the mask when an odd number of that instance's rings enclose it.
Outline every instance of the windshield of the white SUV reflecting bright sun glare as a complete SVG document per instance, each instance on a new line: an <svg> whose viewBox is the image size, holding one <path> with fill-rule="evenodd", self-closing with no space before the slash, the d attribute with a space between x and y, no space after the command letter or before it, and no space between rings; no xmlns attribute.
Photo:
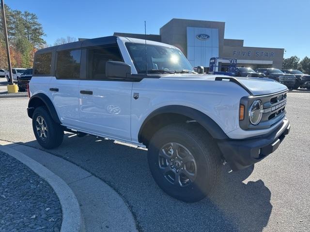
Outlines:
<svg viewBox="0 0 310 232"><path fill-rule="evenodd" d="M146 60L147 70L188 70L194 72L193 67L179 49L147 44L145 54L145 44L143 43L126 43L126 47L138 73L146 71Z"/></svg>

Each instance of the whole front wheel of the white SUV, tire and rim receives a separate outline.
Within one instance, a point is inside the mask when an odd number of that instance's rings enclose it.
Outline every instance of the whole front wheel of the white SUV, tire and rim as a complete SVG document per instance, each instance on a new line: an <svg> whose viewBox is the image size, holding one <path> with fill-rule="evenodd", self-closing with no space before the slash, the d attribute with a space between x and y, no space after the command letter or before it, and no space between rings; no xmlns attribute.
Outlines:
<svg viewBox="0 0 310 232"><path fill-rule="evenodd" d="M155 133L148 148L155 182L174 198L196 202L210 194L222 169L213 138L193 124L173 124Z"/></svg>

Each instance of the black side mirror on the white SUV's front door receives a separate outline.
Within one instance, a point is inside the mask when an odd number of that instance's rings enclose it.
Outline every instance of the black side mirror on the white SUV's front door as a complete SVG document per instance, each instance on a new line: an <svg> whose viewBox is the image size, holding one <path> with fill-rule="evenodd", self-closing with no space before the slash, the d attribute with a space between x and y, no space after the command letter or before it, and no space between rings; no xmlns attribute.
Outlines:
<svg viewBox="0 0 310 232"><path fill-rule="evenodd" d="M131 75L131 66L121 61L106 62L106 77L126 78Z"/></svg>

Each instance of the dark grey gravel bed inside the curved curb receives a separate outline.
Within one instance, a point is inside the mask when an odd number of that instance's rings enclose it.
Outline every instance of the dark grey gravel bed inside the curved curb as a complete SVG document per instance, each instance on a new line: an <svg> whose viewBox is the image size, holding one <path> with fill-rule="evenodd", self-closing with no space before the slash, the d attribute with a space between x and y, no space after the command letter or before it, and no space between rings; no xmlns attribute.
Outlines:
<svg viewBox="0 0 310 232"><path fill-rule="evenodd" d="M0 151L0 232L59 232L62 209L53 189Z"/></svg>

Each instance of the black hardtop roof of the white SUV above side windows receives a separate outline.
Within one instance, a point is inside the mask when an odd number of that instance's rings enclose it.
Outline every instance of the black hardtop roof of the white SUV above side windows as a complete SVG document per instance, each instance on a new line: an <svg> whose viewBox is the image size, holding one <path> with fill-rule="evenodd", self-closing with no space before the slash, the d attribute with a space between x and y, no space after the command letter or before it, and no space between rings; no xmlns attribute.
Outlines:
<svg viewBox="0 0 310 232"><path fill-rule="evenodd" d="M47 47L38 50L38 53L41 52L47 52L49 50L56 50L56 51L64 51L64 50L70 50L70 49L78 49L83 47L93 47L93 46L100 46L100 45L108 45L116 43L116 39L118 36L106 36L106 37L100 37L100 38L94 38L94 39L87 39L72 43L64 43L57 46Z"/></svg>

